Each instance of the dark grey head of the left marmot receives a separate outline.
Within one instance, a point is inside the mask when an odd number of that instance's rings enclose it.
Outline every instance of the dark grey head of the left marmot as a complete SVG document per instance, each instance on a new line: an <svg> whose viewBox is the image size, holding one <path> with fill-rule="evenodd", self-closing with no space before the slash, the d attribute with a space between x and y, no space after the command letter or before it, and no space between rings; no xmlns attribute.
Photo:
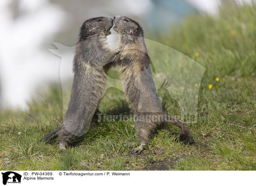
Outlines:
<svg viewBox="0 0 256 186"><path fill-rule="evenodd" d="M98 35L110 35L113 19L110 17L94 17L84 21L81 26L79 40Z"/></svg>

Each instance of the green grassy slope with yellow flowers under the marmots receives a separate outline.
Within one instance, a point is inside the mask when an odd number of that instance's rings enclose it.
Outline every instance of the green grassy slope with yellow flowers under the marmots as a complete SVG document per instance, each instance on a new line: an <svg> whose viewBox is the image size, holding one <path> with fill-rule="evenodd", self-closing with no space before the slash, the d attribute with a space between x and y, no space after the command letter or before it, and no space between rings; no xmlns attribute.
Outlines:
<svg viewBox="0 0 256 186"><path fill-rule="evenodd" d="M221 9L217 17L194 15L157 38L206 68L198 85L197 122L189 124L194 144L175 142L177 129L170 126L171 136L158 131L148 144L149 150L131 155L129 149L140 143L134 123L101 122L79 143L59 153L56 141L38 142L61 125L63 118L61 87L52 85L41 100L30 103L27 112L8 110L0 114L0 169L256 170L255 9L255 4L232 6ZM160 63L156 61L154 66ZM165 98L168 112L180 112L165 91L159 94ZM115 88L107 91L100 110L129 113L123 93Z"/></svg>

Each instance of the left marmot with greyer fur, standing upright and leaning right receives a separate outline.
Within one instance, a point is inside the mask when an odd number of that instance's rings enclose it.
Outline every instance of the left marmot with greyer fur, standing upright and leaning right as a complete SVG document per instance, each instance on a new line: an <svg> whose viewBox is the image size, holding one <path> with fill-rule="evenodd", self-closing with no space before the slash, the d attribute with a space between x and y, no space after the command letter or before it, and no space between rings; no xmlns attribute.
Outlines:
<svg viewBox="0 0 256 186"><path fill-rule="evenodd" d="M84 21L73 59L73 86L63 124L44 137L49 141L59 137L59 148L65 149L71 137L80 136L90 128L90 122L102 98L106 73L105 64L118 53L112 50L106 36L111 34L113 19L95 17Z"/></svg>

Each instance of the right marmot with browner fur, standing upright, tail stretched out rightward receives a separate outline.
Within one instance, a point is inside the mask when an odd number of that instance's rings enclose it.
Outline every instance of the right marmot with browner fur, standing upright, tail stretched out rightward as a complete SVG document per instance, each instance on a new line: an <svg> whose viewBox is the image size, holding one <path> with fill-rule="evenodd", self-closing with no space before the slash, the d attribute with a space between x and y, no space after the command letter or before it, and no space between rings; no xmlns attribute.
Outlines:
<svg viewBox="0 0 256 186"><path fill-rule="evenodd" d="M125 94L134 116L145 118L146 115L166 115L157 97L142 27L128 17L117 15L114 17L113 29L119 33L120 52L107 66L108 68L109 66L117 67L121 73ZM166 129L167 123L180 129L181 141L189 142L192 139L189 128L180 120L173 118L168 122L153 120L150 122L135 120L136 133L141 144L137 148L132 148L131 153L140 154L144 149L143 146L148 144L148 138L152 132L158 128Z"/></svg>

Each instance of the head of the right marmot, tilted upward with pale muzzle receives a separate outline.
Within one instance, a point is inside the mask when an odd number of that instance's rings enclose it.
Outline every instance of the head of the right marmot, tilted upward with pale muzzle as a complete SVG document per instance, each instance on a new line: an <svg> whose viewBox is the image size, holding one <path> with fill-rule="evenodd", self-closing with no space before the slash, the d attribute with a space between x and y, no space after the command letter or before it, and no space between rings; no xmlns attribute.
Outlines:
<svg viewBox="0 0 256 186"><path fill-rule="evenodd" d="M114 17L113 29L119 34L134 35L137 37L143 37L143 29L139 23L128 17L116 15Z"/></svg>

